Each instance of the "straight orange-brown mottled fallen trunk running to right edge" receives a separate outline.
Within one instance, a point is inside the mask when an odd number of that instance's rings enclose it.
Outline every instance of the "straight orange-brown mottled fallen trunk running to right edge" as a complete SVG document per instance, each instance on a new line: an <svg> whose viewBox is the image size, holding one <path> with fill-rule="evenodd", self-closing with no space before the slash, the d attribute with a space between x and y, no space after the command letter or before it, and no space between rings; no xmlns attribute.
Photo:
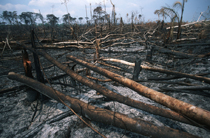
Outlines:
<svg viewBox="0 0 210 138"><path fill-rule="evenodd" d="M172 98L168 95L165 95L163 93L157 92L153 89L150 89L146 86L143 86L133 80L130 80L128 78L125 78L121 75L115 74L113 72L110 72L106 69L97 67L95 65L92 65L90 63L87 63L83 60L77 59L73 56L67 56L70 60L79 63L80 65L83 65L97 73L100 73L114 81L117 81L133 90L138 92L140 95L143 95L145 97L148 97L162 105L165 105L169 107L170 109L181 113L182 115L185 115L196 122L199 122L201 124L206 125L208 128L210 128L210 112L204 109L201 109L199 107L193 106L191 104L185 103L183 101L177 100L175 98Z"/></svg>

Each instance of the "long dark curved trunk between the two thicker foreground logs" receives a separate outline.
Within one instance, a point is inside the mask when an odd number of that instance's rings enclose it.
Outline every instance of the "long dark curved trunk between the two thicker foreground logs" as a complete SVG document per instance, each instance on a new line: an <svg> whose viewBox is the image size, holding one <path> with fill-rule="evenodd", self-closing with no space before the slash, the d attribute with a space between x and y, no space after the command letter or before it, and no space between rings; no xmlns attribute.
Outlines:
<svg viewBox="0 0 210 138"><path fill-rule="evenodd" d="M24 47L31 50L32 52L35 52L32 48L29 48L29 47L26 47L26 46L24 46ZM105 87L103 87L99 84L96 84L94 82L91 82L90 80L80 76L79 74L77 74L74 71L72 71L71 69L69 69L67 66L64 66L63 64L61 64L58 61L56 61L55 59L53 59L50 55L48 55L44 51L36 50L36 52L38 54L44 56L51 63L58 66L61 70L66 72L73 79L83 83L84 85L87 85L90 88L93 88L93 89L97 90L101 94L105 95L106 97L108 97L108 98L110 98L114 101L118 101L120 103L127 104L129 106L144 110L144 111L152 113L152 114L160 115L160 116L167 117L167 118L170 118L170 119L174 119L174 120L177 120L177 121L180 121L180 122L183 122L183 123L188 123L188 124L197 126L197 123L192 123L191 121L189 121L188 119L184 118L183 116L179 115L178 113L176 113L174 111L158 108L158 107L155 107L155 106L152 106L152 105L149 105L149 104L145 104L145 103L140 102L140 101L133 100L133 99L128 98L128 97L124 97L124 96L119 95L117 93L114 93L114 92L110 91L109 89L107 89L107 88L105 88Z"/></svg>

